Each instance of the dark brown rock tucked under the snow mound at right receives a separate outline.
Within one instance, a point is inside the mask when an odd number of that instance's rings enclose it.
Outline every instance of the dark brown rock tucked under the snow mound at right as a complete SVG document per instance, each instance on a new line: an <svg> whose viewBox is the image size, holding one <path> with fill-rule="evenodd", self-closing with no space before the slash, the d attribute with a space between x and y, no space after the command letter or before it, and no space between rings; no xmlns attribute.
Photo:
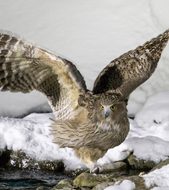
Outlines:
<svg viewBox="0 0 169 190"><path fill-rule="evenodd" d="M131 154L127 158L127 162L129 164L129 167L134 170L150 170L152 169L156 163L153 161L146 161L146 160L141 160L138 159L135 155Z"/></svg>

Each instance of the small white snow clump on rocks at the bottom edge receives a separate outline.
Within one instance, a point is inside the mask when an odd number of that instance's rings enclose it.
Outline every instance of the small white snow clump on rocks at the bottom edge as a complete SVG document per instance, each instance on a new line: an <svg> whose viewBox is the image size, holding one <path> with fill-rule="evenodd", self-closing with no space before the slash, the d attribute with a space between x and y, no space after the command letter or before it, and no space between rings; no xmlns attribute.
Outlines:
<svg viewBox="0 0 169 190"><path fill-rule="evenodd" d="M134 190L135 184L132 181L124 180L120 184L116 182L115 185L106 187L104 190Z"/></svg>

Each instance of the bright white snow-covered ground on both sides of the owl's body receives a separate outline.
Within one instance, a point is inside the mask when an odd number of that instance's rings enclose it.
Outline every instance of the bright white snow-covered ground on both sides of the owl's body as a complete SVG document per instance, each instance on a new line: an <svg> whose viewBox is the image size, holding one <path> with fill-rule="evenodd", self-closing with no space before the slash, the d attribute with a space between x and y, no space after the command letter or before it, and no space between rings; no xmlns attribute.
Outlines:
<svg viewBox="0 0 169 190"><path fill-rule="evenodd" d="M108 150L98 160L100 166L124 160L131 152L144 160L159 163L169 157L169 92L150 97L144 107L130 120L130 132L127 139L118 147ZM168 109L167 109L168 106ZM147 114L149 117L147 117ZM161 115L160 115L161 114ZM82 168L84 165L75 156L72 149L59 148L52 143L50 124L52 114L30 114L23 119L0 118L0 149L5 147L23 150L38 160L62 159L66 169ZM156 184L168 187L168 166L144 175L147 186ZM160 181L156 182L156 174ZM161 176L161 177L160 177ZM122 189L123 184L117 184ZM131 185L131 184L129 184ZM132 185L131 185L132 187Z"/></svg>

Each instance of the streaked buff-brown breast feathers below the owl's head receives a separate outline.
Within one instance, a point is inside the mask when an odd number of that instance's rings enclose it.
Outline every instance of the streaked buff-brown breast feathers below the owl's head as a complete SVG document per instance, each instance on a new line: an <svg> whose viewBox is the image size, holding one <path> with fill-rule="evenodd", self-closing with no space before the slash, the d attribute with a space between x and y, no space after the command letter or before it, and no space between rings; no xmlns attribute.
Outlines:
<svg viewBox="0 0 169 190"><path fill-rule="evenodd" d="M84 118L82 121L80 118L56 121L52 125L53 141L60 147L108 150L124 141L129 131L129 122L125 115L119 121L112 121L111 126L106 126L108 124L105 122L98 126L89 118L85 121Z"/></svg>

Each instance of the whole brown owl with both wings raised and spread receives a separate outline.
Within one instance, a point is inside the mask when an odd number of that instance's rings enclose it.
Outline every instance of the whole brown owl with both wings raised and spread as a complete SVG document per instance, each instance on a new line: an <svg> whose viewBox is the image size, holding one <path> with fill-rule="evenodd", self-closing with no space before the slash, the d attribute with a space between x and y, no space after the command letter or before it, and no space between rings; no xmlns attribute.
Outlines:
<svg viewBox="0 0 169 190"><path fill-rule="evenodd" d="M154 72L168 39L169 30L113 60L89 91L70 61L0 33L0 87L45 94L55 114L54 142L73 148L91 166L126 138L126 101Z"/></svg>

